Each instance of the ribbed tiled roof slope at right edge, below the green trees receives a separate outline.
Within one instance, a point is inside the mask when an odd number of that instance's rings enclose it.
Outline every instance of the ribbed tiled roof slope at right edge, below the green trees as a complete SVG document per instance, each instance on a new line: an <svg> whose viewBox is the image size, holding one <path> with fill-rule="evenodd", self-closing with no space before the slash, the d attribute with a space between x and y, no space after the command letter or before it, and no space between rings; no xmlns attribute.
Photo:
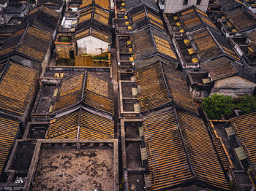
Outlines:
<svg viewBox="0 0 256 191"><path fill-rule="evenodd" d="M256 165L256 112L233 117L230 119L230 122L233 129L236 131L238 139L241 141L241 144L243 144L249 160L253 165Z"/></svg>

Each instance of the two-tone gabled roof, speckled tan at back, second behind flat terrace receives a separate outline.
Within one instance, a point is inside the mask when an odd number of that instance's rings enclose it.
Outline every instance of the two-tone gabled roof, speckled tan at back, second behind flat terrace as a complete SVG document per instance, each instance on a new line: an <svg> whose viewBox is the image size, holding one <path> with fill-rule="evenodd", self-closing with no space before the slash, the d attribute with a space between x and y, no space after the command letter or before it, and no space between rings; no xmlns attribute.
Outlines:
<svg viewBox="0 0 256 191"><path fill-rule="evenodd" d="M53 113L78 104L114 114L113 84L89 73L63 79L58 87Z"/></svg>

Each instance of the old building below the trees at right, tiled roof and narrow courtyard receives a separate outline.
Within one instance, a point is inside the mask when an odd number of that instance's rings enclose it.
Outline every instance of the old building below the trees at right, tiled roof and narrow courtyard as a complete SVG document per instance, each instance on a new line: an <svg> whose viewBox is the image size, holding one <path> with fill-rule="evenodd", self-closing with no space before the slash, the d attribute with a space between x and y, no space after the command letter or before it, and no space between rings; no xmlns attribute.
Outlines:
<svg viewBox="0 0 256 191"><path fill-rule="evenodd" d="M231 189L253 190L255 187L254 125L255 112L230 120L209 120L211 139L231 178Z"/></svg>

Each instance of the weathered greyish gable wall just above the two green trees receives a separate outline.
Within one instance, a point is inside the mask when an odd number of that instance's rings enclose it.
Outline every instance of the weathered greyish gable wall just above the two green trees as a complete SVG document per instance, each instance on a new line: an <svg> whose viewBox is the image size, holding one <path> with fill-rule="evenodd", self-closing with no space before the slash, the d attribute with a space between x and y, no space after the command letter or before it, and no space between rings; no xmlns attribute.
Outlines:
<svg viewBox="0 0 256 191"><path fill-rule="evenodd" d="M256 83L251 82L242 77L228 77L226 79L219 79L215 82L211 94L218 93L224 95L232 95L233 97L241 96L244 94L252 95L255 90Z"/></svg>

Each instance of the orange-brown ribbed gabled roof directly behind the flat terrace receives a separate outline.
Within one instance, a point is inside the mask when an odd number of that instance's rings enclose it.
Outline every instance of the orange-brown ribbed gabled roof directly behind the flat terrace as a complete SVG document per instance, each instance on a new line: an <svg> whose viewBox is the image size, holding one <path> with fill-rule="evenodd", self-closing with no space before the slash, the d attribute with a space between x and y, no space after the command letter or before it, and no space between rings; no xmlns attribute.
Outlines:
<svg viewBox="0 0 256 191"><path fill-rule="evenodd" d="M114 122L80 108L51 120L45 139L114 139Z"/></svg>

